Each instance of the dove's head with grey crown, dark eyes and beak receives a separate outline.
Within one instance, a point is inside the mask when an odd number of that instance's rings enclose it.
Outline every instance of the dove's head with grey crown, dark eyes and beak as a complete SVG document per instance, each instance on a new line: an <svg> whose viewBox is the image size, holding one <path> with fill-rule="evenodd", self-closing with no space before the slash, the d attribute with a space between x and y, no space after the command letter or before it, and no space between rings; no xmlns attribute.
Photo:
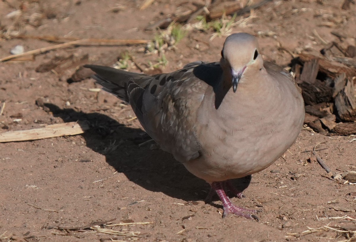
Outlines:
<svg viewBox="0 0 356 242"><path fill-rule="evenodd" d="M237 84L246 70L258 72L263 68L256 37L248 33L228 36L221 51L220 65L224 78L231 81L232 89L236 92Z"/></svg>

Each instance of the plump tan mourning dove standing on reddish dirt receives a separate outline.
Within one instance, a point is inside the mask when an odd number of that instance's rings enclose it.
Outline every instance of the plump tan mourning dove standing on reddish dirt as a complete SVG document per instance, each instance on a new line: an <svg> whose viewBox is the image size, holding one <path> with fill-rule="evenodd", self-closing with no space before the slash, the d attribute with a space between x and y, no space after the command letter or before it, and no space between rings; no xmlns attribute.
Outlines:
<svg viewBox="0 0 356 242"><path fill-rule="evenodd" d="M232 213L256 219L230 179L259 172L292 145L304 120L304 102L293 77L263 62L257 39L226 38L220 62L193 62L172 73L145 75L85 65L105 91L129 102L142 127L189 172L204 179Z"/></svg>

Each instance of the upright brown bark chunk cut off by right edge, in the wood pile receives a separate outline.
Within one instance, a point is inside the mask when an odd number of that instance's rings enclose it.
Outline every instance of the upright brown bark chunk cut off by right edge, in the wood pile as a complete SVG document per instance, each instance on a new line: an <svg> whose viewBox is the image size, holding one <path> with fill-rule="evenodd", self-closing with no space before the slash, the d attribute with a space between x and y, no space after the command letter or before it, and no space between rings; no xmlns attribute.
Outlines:
<svg viewBox="0 0 356 242"><path fill-rule="evenodd" d="M356 98L354 82L350 79L346 80L346 86L335 97L335 106L337 114L342 120L356 120Z"/></svg>

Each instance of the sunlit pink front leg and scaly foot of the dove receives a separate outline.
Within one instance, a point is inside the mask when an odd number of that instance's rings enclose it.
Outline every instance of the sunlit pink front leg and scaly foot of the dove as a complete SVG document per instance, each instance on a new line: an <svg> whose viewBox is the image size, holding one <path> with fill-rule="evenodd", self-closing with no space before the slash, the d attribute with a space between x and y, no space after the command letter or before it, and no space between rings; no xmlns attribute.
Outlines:
<svg viewBox="0 0 356 242"><path fill-rule="evenodd" d="M218 194L220 200L223 202L224 213L223 218L227 216L227 214L236 214L237 216L244 217L246 219L255 219L259 221L258 217L254 215L257 213L256 210L252 209L244 209L242 207L237 207L232 204L230 198L226 196L224 191L224 181L215 181L211 183L211 188L213 188Z"/></svg>

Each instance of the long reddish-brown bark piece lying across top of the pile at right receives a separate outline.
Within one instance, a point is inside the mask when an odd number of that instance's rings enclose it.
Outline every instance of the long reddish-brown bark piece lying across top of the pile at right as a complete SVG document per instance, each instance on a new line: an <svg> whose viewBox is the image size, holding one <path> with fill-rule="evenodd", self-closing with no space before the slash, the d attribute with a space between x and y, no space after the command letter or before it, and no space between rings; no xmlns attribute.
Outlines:
<svg viewBox="0 0 356 242"><path fill-rule="evenodd" d="M336 61L330 61L329 59L307 52L299 54L299 60L304 63L311 61L315 58L319 59L319 71L325 73L329 77L336 78L340 73L345 73L347 77L356 77L356 68L349 67L345 64L341 64Z"/></svg>

